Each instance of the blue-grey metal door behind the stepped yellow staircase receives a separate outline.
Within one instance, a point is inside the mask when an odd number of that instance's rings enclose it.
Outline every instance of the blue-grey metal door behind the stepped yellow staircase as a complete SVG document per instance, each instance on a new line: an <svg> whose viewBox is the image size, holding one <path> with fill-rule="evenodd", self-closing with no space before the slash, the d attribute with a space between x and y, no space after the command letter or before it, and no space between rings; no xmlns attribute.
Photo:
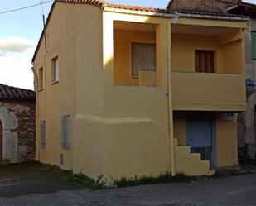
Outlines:
<svg viewBox="0 0 256 206"><path fill-rule="evenodd" d="M212 118L186 118L186 146L191 147L191 153L200 153L202 160L210 160L210 167L214 167L215 122Z"/></svg>

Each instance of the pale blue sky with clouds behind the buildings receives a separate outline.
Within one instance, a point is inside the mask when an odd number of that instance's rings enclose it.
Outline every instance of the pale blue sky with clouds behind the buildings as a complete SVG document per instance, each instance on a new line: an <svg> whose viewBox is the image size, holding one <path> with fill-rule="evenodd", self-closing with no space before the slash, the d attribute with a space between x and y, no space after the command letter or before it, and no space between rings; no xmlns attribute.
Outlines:
<svg viewBox="0 0 256 206"><path fill-rule="evenodd" d="M44 0L44 2L48 1L51 0ZM43 28L42 8L37 6L17 12L2 12L39 2L41 0L0 0L0 84L33 89L31 59ZM107 2L163 8L169 1L109 0ZM244 2L256 3L256 0ZM43 7L46 16L50 11L51 3L48 2Z"/></svg>

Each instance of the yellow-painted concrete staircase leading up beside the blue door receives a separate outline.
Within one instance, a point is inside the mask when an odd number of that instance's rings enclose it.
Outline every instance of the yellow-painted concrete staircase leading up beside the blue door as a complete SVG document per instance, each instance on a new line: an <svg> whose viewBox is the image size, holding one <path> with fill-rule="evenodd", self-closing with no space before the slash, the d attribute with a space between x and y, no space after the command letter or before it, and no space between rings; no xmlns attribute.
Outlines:
<svg viewBox="0 0 256 206"><path fill-rule="evenodd" d="M200 154L191 153L190 146L178 146L174 139L175 170L190 176L213 175L215 170L210 170L210 161L201 160Z"/></svg>

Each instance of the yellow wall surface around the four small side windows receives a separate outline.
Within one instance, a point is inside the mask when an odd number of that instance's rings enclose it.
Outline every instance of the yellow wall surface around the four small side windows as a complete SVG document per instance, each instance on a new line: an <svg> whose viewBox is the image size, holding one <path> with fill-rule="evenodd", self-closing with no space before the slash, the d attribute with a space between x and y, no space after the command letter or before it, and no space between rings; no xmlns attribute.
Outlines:
<svg viewBox="0 0 256 206"><path fill-rule="evenodd" d="M64 154L65 165L63 168L68 170L72 169L72 147L70 150L63 150L60 147L60 117L61 115L70 114L72 118L75 114L74 9L73 6L56 5L46 31L47 53L45 53L45 43L42 41L34 62L37 75L38 69L43 67L44 76L44 89L37 93L37 150L40 148L39 121L46 121L46 149L40 149L37 158L43 163L60 165L60 154ZM52 84L51 59L56 55L59 57L60 82Z"/></svg>

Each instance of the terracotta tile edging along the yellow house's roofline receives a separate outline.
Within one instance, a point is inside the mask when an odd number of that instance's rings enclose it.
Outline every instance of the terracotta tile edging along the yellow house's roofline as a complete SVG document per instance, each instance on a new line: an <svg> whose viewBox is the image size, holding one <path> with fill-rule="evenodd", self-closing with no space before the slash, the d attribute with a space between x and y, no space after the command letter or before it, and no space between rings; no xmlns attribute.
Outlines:
<svg viewBox="0 0 256 206"><path fill-rule="evenodd" d="M41 45L41 41L44 36L43 34L46 31L46 27L48 26L48 23L50 22L53 9L56 6L57 2L70 3L70 4L89 4L89 5L99 7L100 9L103 9L103 10L104 10L104 8L114 8L114 9L132 10L132 11L137 11L137 12L174 13L174 11L168 11L167 9L162 9L162 8L139 7L139 6L131 6L131 5L123 5L123 4L114 4L114 3L107 3L104 0L55 0L53 2L51 11L46 20L46 26L44 27L43 31L41 32L41 37L36 46L36 51L33 55L32 62L34 62L34 60L36 59L36 54L39 50L39 46ZM241 16L241 15L223 14L223 13L220 14L220 13L214 13L214 12L194 12L194 11L178 11L178 12L184 13L184 14L197 14L197 15L205 15L205 16L219 16L220 15L222 17L245 17L245 16Z"/></svg>

